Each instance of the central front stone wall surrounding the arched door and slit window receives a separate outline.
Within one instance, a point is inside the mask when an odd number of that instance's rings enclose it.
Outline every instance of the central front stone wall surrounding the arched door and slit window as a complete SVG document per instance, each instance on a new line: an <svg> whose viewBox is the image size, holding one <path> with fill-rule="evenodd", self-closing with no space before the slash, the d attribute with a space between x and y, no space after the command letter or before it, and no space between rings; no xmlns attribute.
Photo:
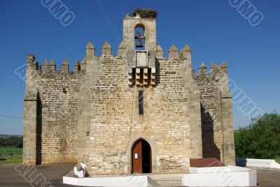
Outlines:
<svg viewBox="0 0 280 187"><path fill-rule="evenodd" d="M79 93L85 105L78 109L87 115L78 120L78 126L84 124L78 138L86 137L86 144L79 158L92 175L127 174L132 145L142 138L151 145L153 173L186 172L189 158L202 158L200 91L190 59L159 58L155 86L147 87L129 86L126 59L125 54L87 57ZM144 115L139 115L140 90Z"/></svg>

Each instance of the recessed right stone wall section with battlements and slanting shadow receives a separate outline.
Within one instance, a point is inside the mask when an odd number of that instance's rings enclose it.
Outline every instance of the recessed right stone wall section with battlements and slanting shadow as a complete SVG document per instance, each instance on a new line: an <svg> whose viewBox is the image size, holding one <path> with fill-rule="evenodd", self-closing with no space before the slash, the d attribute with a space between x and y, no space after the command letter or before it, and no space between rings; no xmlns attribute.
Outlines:
<svg viewBox="0 0 280 187"><path fill-rule="evenodd" d="M204 63L200 72L194 74L200 87L201 118L202 118L202 151L203 158L218 158L225 164L235 165L235 150L233 145L232 103L228 89L228 66L223 63L216 66L213 63L211 71L207 72ZM231 111L230 116L223 111ZM230 138L230 154L225 154L226 138ZM233 148L232 148L233 145ZM228 146L227 146L228 147Z"/></svg>

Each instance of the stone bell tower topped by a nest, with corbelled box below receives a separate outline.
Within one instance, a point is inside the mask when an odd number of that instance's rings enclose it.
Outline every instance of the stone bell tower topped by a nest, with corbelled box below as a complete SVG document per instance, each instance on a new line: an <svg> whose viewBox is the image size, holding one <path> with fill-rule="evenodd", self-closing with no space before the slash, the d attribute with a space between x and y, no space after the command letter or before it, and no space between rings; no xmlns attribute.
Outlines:
<svg viewBox="0 0 280 187"><path fill-rule="evenodd" d="M154 85L156 11L139 9L135 14L135 17L127 14L123 19L123 45L126 48L130 84Z"/></svg>

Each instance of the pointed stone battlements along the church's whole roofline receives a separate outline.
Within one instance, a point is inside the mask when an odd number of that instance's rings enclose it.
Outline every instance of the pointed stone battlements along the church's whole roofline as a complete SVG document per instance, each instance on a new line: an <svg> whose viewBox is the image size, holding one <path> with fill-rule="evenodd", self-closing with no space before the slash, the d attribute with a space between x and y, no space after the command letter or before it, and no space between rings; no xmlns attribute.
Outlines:
<svg viewBox="0 0 280 187"><path fill-rule="evenodd" d="M27 54L27 64L29 68L35 70L35 72L39 73L39 75L84 75L86 72L86 64L87 61L92 59L99 59L99 63L101 63L100 59L106 57L123 57L127 56L127 48L125 43L122 41L120 45L118 45L118 54L112 54L112 47L108 41L104 42L102 46L102 53L98 56L95 52L94 45L89 42L85 47L85 57L82 61L76 60L74 63L73 70L69 70L69 62L67 59L64 59L61 64L60 70L57 69L57 63L55 63L54 59L51 59L50 62L48 59L45 59L42 65L36 61L33 54ZM167 57L164 57L164 50L160 45L157 45L155 51L155 59L164 60L164 61L190 61L191 64L191 53L192 50L190 49L189 45L185 45L181 51L175 45L172 45L169 50ZM136 53L134 54L136 55ZM216 63L212 63L211 68L207 70L207 66L205 63L200 65L199 71L196 72L193 69L193 76L195 77L218 77L217 75L221 75L221 73L225 73L228 75L228 65L227 63L223 62L221 65L217 66Z"/></svg>

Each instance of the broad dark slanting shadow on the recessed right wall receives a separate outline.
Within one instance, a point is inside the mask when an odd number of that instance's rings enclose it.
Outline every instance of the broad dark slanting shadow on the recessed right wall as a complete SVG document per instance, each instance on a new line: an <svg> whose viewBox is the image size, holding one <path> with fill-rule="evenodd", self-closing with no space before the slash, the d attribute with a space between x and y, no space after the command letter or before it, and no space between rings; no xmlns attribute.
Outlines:
<svg viewBox="0 0 280 187"><path fill-rule="evenodd" d="M202 120L202 157L218 158L221 160L221 151L214 142L214 120L200 103Z"/></svg>

